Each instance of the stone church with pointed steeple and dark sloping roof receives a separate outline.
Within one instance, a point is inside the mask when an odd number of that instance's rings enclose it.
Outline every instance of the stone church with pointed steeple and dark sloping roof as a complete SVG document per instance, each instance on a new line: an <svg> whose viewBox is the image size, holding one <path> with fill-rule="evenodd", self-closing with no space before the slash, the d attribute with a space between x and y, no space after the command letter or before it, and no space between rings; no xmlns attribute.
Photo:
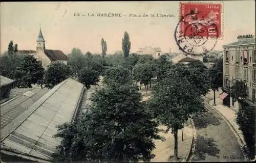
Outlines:
<svg viewBox="0 0 256 163"><path fill-rule="evenodd" d="M29 53L33 55L37 61L41 61L42 66L47 68L47 66L55 61L60 61L67 64L68 57L61 50L50 50L46 49L45 39L42 36L41 28L39 29L39 34L36 40L36 51L34 50L18 50L19 53Z"/></svg>

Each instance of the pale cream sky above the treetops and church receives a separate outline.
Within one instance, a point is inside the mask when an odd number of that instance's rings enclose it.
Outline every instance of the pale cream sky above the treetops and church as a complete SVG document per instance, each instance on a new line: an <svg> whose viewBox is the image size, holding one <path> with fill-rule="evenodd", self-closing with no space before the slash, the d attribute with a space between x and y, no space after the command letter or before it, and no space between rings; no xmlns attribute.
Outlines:
<svg viewBox="0 0 256 163"><path fill-rule="evenodd" d="M206 1L214 3L214 1ZM238 35L255 36L255 1L216 1L223 4L223 39L215 50L236 41ZM160 47L163 52L179 52L174 31L179 20L179 2L1 2L1 53L10 40L18 49L36 49L41 31L47 49L66 54L73 47L84 53L100 53L100 40L108 44L107 53L122 49L124 32L128 32L131 52L139 47ZM74 16L94 14L94 17ZM121 13L122 17L97 17L97 13ZM170 18L129 17L129 14L174 14ZM126 16L125 16L126 15Z"/></svg>

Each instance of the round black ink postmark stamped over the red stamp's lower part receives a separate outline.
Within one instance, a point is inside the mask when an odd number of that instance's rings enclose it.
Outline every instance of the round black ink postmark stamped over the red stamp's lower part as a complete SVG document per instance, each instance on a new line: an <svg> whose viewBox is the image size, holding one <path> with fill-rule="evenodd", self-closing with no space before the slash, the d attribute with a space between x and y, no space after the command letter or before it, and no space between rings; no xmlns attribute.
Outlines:
<svg viewBox="0 0 256 163"><path fill-rule="evenodd" d="M214 49L218 36L214 19L197 13L183 16L175 29L175 40L179 49L190 55L203 55Z"/></svg>

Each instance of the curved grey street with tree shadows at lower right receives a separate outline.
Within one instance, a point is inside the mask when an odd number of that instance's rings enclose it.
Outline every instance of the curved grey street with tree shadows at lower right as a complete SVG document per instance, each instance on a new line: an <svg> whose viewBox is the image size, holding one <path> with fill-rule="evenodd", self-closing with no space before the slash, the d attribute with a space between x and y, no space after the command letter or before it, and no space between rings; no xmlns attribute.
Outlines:
<svg viewBox="0 0 256 163"><path fill-rule="evenodd" d="M192 161L244 161L238 141L222 117L212 108L193 118L197 141Z"/></svg>

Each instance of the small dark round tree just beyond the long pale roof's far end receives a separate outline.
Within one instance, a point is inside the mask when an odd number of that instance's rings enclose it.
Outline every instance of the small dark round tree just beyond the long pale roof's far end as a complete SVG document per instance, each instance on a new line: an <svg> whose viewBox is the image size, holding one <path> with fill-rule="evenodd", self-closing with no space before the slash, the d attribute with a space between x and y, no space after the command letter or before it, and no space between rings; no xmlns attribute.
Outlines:
<svg viewBox="0 0 256 163"><path fill-rule="evenodd" d="M99 82L99 72L93 69L82 69L78 75L78 80L87 89L91 88L91 85L95 85L96 88L97 82Z"/></svg>

